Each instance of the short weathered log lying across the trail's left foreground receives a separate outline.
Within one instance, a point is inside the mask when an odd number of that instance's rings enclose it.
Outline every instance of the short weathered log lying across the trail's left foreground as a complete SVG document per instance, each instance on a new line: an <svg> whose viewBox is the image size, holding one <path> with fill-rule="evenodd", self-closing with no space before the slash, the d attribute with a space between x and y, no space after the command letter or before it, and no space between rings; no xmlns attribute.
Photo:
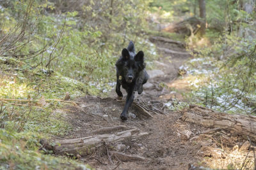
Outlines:
<svg viewBox="0 0 256 170"><path fill-rule="evenodd" d="M116 132L115 134L99 134L84 138L55 140L54 143L56 143L56 145L52 147L48 147L49 144L46 141L41 144L47 146L47 149L52 150L58 155L79 154L83 156L92 153L97 146L103 145L104 143L120 143L126 139L136 140L147 135L148 132L140 132L138 129L130 129L127 131Z"/></svg>

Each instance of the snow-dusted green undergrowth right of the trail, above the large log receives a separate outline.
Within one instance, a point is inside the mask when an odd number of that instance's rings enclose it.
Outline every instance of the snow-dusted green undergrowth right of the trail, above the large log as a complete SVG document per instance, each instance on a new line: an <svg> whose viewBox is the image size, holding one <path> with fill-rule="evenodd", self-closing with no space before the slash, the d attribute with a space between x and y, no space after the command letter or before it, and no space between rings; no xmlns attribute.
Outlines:
<svg viewBox="0 0 256 170"><path fill-rule="evenodd" d="M191 88L189 103L227 113L255 114L256 41L251 35L237 36L243 31L246 33L245 27L240 27L230 34L224 32L212 45L193 46L195 58L184 66L188 71L184 80Z"/></svg>

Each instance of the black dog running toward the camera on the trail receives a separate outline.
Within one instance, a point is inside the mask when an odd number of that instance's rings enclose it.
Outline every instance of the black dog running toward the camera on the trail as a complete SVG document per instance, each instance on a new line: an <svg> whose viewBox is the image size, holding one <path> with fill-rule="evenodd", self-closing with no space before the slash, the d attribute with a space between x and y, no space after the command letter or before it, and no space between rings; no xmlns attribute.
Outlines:
<svg viewBox="0 0 256 170"><path fill-rule="evenodd" d="M127 48L122 50L122 56L116 62L116 94L123 97L120 86L126 90L127 97L120 118L127 120L127 112L132 104L134 92L141 94L142 85L147 82L149 76L145 70L144 53L142 51L135 53L132 41Z"/></svg>

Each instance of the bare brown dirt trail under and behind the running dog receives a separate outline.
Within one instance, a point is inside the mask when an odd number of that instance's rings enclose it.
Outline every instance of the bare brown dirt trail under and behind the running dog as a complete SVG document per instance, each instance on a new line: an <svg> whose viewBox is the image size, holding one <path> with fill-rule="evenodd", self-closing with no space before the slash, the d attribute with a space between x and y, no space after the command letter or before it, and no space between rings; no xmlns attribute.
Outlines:
<svg viewBox="0 0 256 170"><path fill-rule="evenodd" d="M151 78L145 84L143 94L135 97L137 101L143 102L152 110L164 110L164 103L171 100L172 95L167 95L171 94L170 90L161 83L172 84L172 81L177 78L179 67L189 55L179 45L158 40L152 42L162 51L164 48L182 52L181 54L161 52L163 57L156 61L156 69L148 71ZM67 138L97 135L100 132L92 134L92 131L118 125L125 125L129 129L136 128L140 132L148 132L148 136L125 139L119 143L106 143L106 146L99 146L92 154L81 157L81 160L96 169L188 169L189 163L195 164L200 161L196 153L201 145L192 143L188 139L193 134L203 131L203 127L183 122L179 119L179 111L165 110L164 114L158 112L152 118L148 118L141 114L141 110L134 104L129 110L131 117L126 122L122 122L119 116L124 103L116 102L115 97L115 92L111 92L106 99L92 96L77 99L81 104L68 108L72 112L67 116L68 121L73 125L74 131ZM118 131L106 133L116 134L116 132ZM119 160L118 156L109 157L108 151L138 155L146 160L125 162Z"/></svg>

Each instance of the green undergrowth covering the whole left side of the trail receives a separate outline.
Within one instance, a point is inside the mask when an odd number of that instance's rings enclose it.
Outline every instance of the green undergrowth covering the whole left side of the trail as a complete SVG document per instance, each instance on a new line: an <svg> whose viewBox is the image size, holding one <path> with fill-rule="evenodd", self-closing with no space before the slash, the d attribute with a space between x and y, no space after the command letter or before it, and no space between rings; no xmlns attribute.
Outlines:
<svg viewBox="0 0 256 170"><path fill-rule="evenodd" d="M0 169L91 169L42 150L41 138L72 130L69 111L58 111L72 103L60 100L106 96L115 85L115 62L131 40L148 68L157 58L143 33L148 1L116 1L115 8L102 8L108 1L77 3L85 4L62 13L56 1L0 3ZM102 18L105 24L98 23Z"/></svg>

